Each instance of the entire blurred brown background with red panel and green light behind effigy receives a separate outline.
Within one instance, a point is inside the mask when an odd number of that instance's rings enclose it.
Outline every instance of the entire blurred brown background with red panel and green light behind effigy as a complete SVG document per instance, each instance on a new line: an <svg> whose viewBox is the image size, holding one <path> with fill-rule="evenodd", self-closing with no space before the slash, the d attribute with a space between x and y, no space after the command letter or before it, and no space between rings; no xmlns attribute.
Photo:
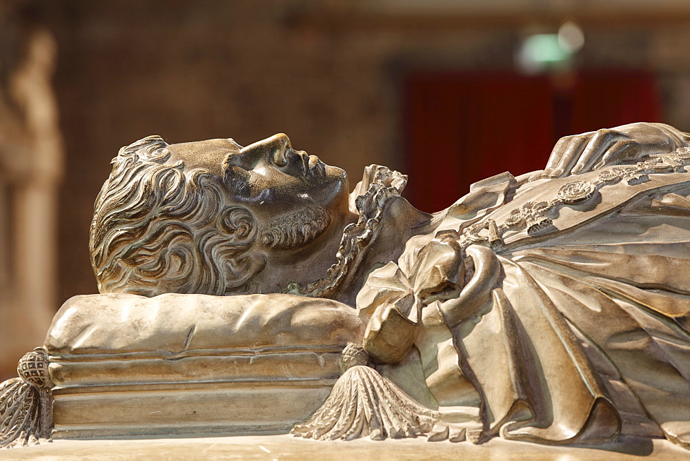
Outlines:
<svg viewBox="0 0 690 461"><path fill-rule="evenodd" d="M0 0L0 377L97 291L93 202L141 137L287 133L436 211L631 121L690 130L687 0Z"/></svg>

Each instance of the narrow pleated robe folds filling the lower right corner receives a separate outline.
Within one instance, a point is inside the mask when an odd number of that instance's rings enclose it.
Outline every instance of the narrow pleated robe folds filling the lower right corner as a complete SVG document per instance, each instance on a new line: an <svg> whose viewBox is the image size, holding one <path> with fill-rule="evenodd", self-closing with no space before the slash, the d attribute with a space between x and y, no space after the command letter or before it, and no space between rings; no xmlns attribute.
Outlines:
<svg viewBox="0 0 690 461"><path fill-rule="evenodd" d="M557 253L562 256L560 264L553 257ZM609 380L607 391L626 415L624 433L651 435L660 428L667 437L687 445L690 295L683 293L681 258L629 255L627 264L600 264L606 255L585 251L578 253L578 264L569 264L564 260L566 253L524 251L515 264L539 280L573 331L580 332L590 361L613 367L613 372L602 369L599 374ZM648 267L669 271L664 288L658 283L657 288L645 288L651 285L650 279L664 278L649 272L645 277L638 269L650 259L655 259L655 266ZM628 277L621 277L627 271Z"/></svg>

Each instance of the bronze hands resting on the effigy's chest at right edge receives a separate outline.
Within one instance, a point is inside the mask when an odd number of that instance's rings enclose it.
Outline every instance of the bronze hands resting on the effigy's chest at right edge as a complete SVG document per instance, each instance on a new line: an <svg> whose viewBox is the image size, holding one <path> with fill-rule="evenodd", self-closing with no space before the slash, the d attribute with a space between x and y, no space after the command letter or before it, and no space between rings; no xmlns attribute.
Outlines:
<svg viewBox="0 0 690 461"><path fill-rule="evenodd" d="M666 124L635 123L562 137L539 177L564 177L640 161L690 145L690 135Z"/></svg>

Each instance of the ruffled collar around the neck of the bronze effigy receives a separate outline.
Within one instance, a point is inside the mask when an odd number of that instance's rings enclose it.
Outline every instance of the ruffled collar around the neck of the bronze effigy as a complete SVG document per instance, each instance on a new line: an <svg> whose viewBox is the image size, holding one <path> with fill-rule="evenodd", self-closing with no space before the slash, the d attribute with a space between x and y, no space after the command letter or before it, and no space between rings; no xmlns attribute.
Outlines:
<svg viewBox="0 0 690 461"><path fill-rule="evenodd" d="M290 283L284 293L308 297L333 297L345 281L348 273L357 268L380 226L386 203L399 197L407 184L407 176L385 166L372 165L364 171L364 179L358 188L365 186L366 192L355 199L355 207L359 214L356 223L348 224L343 230L336 262L328 269L326 277L301 286Z"/></svg>

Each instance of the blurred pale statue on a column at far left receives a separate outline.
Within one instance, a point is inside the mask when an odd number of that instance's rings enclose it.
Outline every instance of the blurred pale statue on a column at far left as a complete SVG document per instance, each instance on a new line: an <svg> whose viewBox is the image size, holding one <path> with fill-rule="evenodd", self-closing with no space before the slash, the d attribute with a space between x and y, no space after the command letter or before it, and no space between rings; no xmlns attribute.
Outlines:
<svg viewBox="0 0 690 461"><path fill-rule="evenodd" d="M0 376L41 341L55 313L63 167L55 39L36 26L10 27L10 13L0 8Z"/></svg>

